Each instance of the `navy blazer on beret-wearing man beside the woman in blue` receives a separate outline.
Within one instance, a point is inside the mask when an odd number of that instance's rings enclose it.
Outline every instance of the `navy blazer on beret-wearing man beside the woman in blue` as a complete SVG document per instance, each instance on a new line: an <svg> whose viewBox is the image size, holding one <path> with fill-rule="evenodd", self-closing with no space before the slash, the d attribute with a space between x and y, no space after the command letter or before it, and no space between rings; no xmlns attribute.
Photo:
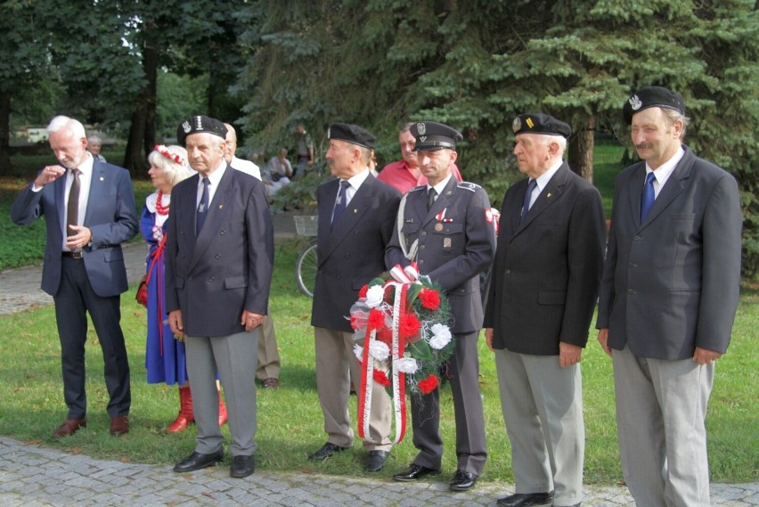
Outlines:
<svg viewBox="0 0 759 507"><path fill-rule="evenodd" d="M189 336L245 331L243 310L266 315L273 268L273 226L264 184L227 167L200 234L200 176L174 187L166 241L167 312L181 309Z"/></svg>

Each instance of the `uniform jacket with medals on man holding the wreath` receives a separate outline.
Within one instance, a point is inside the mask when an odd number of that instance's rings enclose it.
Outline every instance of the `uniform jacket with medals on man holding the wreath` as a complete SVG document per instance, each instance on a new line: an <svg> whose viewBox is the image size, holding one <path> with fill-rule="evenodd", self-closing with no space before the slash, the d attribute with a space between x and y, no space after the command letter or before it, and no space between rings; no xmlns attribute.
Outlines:
<svg viewBox="0 0 759 507"><path fill-rule="evenodd" d="M385 262L388 267L411 262L404 257L419 241L415 260L445 291L453 314L451 330L469 333L482 327L479 274L493 262L495 232L487 193L476 184L457 184L452 177L429 211L427 187L412 188L404 197L403 222L393 234ZM445 215L444 215L445 214Z"/></svg>

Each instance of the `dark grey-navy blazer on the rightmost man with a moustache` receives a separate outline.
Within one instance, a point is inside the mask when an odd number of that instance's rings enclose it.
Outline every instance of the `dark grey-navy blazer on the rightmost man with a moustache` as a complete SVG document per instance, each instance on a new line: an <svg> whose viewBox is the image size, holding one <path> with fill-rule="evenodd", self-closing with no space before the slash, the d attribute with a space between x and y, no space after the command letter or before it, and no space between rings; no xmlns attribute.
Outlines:
<svg viewBox="0 0 759 507"><path fill-rule="evenodd" d="M616 178L596 327L608 347L686 359L696 347L725 352L740 290L738 184L683 146L641 224L645 162Z"/></svg>

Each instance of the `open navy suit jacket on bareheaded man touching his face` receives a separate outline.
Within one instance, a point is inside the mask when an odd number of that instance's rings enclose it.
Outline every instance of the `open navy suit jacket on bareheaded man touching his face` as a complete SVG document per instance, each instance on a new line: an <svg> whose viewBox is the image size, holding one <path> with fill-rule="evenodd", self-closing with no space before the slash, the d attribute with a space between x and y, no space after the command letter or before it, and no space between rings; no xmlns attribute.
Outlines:
<svg viewBox="0 0 759 507"><path fill-rule="evenodd" d="M66 175L45 184L39 192L32 191L33 184L13 201L11 219L14 224L27 225L45 215L47 239L42 290L54 296L61 283ZM135 192L125 168L93 160L84 225L93 235L90 244L82 249L87 278L98 296L118 296L128 288L121 243L132 239L138 228Z"/></svg>

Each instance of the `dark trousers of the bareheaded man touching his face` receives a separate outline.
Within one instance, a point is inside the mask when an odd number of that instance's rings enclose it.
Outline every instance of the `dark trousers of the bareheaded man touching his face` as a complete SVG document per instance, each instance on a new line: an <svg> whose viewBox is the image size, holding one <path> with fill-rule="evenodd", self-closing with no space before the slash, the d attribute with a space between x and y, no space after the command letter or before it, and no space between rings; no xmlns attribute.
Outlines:
<svg viewBox="0 0 759 507"><path fill-rule="evenodd" d="M87 312L97 333L105 367L110 417L128 415L132 403L129 388L129 363L121 331L120 296L102 298L95 294L82 259L62 258L61 286L53 297L58 335L61 339L63 399L69 406L69 419L84 419L87 413L85 392L85 344Z"/></svg>

